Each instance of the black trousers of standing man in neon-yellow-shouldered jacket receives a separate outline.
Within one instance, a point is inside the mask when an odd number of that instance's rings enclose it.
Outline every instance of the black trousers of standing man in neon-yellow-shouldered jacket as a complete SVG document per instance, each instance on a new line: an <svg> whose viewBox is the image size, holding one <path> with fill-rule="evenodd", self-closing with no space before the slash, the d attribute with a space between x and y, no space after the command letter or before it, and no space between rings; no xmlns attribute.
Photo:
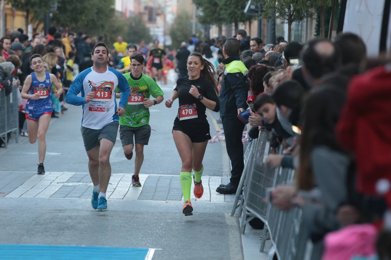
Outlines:
<svg viewBox="0 0 391 260"><path fill-rule="evenodd" d="M221 117L228 157L231 161L230 183L239 185L244 169L242 134L245 124L237 116Z"/></svg>

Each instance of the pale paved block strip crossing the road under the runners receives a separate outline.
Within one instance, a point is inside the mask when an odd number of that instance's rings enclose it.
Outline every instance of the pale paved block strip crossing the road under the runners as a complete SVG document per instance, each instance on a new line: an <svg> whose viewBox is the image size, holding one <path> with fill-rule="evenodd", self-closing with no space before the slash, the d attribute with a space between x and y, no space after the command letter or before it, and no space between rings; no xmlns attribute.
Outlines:
<svg viewBox="0 0 391 260"><path fill-rule="evenodd" d="M51 172L46 175L34 174L31 177L23 174L8 173L7 176L4 174L0 176L2 180L7 180L2 189L10 191L4 194L5 197L91 198L92 182L88 173ZM26 178L29 179L26 180ZM216 187L221 183L228 183L228 179L227 177L203 176L203 197L195 198L194 183L192 183L190 200L192 202L233 202L235 195L221 195L215 192ZM16 180L18 180L17 183ZM117 200L183 201L178 176L140 175L140 182L142 187L133 187L130 174L114 173L110 178L107 196L109 199Z"/></svg>

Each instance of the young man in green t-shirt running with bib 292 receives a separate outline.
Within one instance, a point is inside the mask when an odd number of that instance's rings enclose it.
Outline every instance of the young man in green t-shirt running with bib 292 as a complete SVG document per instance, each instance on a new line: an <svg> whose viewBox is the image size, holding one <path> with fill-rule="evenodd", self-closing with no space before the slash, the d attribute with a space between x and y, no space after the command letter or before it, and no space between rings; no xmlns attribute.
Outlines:
<svg viewBox="0 0 391 260"><path fill-rule="evenodd" d="M125 108L125 114L120 117L120 139L124 148L125 157L132 159L133 147L135 146L135 172L132 176L132 185L141 186L138 174L144 160L144 145L148 145L151 136L149 126L149 107L163 101L163 91L152 78L142 73L144 57L140 53L133 53L131 58L132 72L125 73L129 86L130 96ZM116 88L117 98L120 90ZM152 96L155 100L149 99ZM133 142L133 136L135 141ZM135 145L136 144L136 145Z"/></svg>

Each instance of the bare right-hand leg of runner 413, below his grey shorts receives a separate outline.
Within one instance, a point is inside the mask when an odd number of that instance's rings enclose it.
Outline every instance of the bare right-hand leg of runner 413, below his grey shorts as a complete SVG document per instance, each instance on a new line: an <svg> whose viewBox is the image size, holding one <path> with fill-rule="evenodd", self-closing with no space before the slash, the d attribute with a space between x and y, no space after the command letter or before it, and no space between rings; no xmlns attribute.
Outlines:
<svg viewBox="0 0 391 260"><path fill-rule="evenodd" d="M100 192L106 193L111 176L110 154L114 143L105 138L100 139L99 142L99 185Z"/></svg>

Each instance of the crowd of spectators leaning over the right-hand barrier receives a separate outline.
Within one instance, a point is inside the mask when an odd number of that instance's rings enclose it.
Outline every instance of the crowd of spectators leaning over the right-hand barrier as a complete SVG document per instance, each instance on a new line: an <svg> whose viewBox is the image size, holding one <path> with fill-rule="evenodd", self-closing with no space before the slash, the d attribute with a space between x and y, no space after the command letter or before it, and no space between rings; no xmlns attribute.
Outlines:
<svg viewBox="0 0 391 260"><path fill-rule="evenodd" d="M301 238L314 243L312 259L376 253L389 259L390 60L385 54L368 59L364 42L352 33L307 44L280 41L260 60L260 52L251 58L248 50L241 53L251 64L250 138L271 131L275 154L267 166L296 170L293 184L271 192L272 205L301 207ZM377 244L355 246L362 237Z"/></svg>

